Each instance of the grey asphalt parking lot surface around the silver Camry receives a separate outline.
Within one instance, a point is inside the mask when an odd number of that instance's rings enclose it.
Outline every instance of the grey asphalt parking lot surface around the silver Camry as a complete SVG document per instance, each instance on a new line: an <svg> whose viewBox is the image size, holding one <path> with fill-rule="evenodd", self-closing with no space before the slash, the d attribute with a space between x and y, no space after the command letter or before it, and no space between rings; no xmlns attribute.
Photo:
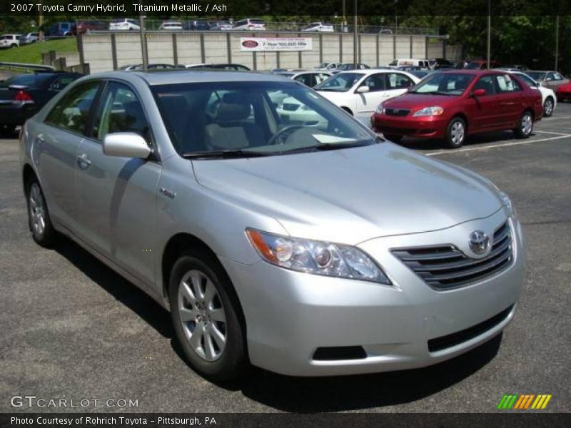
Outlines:
<svg viewBox="0 0 571 428"><path fill-rule="evenodd" d="M527 238L514 322L468 354L421 370L292 378L253 370L221 387L195 374L168 313L74 243L44 250L26 223L17 141L0 139L0 412L496 412L503 394L552 394L571 410L571 103L535 126L455 151L404 146L505 190ZM14 408L10 397L138 399L138 407Z"/></svg>

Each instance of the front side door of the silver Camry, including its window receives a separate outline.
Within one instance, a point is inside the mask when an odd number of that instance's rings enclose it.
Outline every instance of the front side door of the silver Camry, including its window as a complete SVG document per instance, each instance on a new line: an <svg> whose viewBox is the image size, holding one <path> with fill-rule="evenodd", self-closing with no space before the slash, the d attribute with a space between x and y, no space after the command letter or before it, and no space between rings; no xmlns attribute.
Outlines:
<svg viewBox="0 0 571 428"><path fill-rule="evenodd" d="M102 150L103 138L117 132L138 133L153 147L145 108L131 86L109 81L94 116L89 136L78 151L76 200L81 236L132 275L151 282L161 162L156 157L106 156Z"/></svg>

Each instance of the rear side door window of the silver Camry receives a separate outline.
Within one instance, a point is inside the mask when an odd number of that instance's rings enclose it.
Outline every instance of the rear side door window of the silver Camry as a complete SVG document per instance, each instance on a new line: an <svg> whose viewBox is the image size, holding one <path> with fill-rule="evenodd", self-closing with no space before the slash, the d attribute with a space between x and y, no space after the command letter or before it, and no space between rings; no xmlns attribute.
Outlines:
<svg viewBox="0 0 571 428"><path fill-rule="evenodd" d="M92 81L71 89L49 112L46 123L84 134L98 88L99 82Z"/></svg>

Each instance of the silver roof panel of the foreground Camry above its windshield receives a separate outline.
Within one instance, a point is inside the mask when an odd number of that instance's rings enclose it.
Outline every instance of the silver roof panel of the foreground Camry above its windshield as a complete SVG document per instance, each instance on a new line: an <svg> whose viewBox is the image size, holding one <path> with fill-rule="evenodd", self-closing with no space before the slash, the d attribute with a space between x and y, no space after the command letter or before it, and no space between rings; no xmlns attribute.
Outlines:
<svg viewBox="0 0 571 428"><path fill-rule="evenodd" d="M256 71L229 71L216 69L188 69L172 68L170 70L136 70L110 71L108 73L97 73L89 76L91 78L121 78L130 81L140 78L149 86L165 85L172 83L213 83L213 82L281 82L283 78L274 76L272 73L259 73Z"/></svg>

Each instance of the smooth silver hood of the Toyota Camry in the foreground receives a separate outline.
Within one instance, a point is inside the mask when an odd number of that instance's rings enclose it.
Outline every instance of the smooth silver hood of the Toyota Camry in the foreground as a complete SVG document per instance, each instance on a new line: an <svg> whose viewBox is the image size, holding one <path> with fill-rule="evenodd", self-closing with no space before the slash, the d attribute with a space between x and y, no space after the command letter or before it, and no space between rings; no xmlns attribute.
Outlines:
<svg viewBox="0 0 571 428"><path fill-rule="evenodd" d="M485 178L393 143L193 161L198 183L292 236L355 245L450 228L501 208Z"/></svg>

